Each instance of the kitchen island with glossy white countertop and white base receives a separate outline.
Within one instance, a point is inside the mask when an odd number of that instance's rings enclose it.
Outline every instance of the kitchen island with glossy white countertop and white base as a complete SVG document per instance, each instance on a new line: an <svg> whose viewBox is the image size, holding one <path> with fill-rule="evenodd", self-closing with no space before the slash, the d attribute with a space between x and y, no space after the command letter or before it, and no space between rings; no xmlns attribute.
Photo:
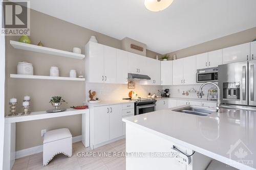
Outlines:
<svg viewBox="0 0 256 170"><path fill-rule="evenodd" d="M256 112L221 108L207 116L159 110L123 118L126 152L173 152L191 156L189 165L176 158L126 157L126 169L204 169L211 159L238 169L256 169ZM159 168L159 169L160 169Z"/></svg>

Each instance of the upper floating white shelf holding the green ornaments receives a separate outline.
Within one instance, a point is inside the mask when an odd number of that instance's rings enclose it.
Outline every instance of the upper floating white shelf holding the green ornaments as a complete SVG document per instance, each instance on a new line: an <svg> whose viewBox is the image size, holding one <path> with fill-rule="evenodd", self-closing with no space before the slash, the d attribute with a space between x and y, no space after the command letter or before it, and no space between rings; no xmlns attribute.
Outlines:
<svg viewBox="0 0 256 170"><path fill-rule="evenodd" d="M27 44L27 43L18 42L18 41L10 40L10 44L14 48L21 49L21 50L32 51L32 52L45 53L45 54L51 54L51 55L62 56L62 57L69 57L69 58L80 59L80 60L82 60L85 57L83 54L77 54L77 53L57 50L57 49L49 48L49 47L45 47L45 46Z"/></svg>

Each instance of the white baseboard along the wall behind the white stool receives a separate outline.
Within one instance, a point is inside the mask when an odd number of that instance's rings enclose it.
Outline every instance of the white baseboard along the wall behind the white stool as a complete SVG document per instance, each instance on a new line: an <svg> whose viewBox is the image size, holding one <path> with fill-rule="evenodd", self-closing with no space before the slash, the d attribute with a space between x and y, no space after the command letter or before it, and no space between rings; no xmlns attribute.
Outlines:
<svg viewBox="0 0 256 170"><path fill-rule="evenodd" d="M73 143L81 141L81 140L82 140L82 135L74 136L72 138ZM42 152L42 145L38 145L36 147L16 151L15 152L15 159L22 158L22 157L29 156L29 155L33 155L33 154L37 154L39 152Z"/></svg>

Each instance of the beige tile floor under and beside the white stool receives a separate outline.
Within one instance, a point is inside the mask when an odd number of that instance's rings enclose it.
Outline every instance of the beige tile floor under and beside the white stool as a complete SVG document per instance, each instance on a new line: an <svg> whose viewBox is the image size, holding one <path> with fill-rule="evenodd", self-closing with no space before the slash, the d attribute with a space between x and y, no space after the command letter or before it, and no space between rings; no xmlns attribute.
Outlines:
<svg viewBox="0 0 256 170"><path fill-rule="evenodd" d="M73 143L73 156L56 155L47 166L42 166L42 152L15 160L12 170L90 170L90 169L125 169L124 157L79 157L78 152L125 152L125 139L91 150L84 148L82 142Z"/></svg>

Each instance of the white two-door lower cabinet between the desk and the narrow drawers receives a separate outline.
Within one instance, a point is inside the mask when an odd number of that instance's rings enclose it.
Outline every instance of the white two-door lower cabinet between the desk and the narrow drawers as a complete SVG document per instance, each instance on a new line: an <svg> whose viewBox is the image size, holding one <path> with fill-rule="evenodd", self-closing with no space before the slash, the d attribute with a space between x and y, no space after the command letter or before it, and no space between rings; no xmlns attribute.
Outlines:
<svg viewBox="0 0 256 170"><path fill-rule="evenodd" d="M98 106L90 117L91 147L122 136L122 106Z"/></svg>

